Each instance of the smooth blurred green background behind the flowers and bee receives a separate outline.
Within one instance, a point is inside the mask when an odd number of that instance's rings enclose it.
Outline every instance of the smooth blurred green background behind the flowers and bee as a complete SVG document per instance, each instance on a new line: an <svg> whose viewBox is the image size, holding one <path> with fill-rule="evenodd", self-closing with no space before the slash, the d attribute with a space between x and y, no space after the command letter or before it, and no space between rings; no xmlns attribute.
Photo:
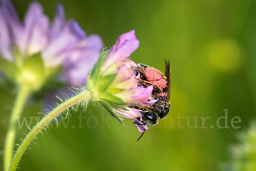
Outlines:
<svg viewBox="0 0 256 171"><path fill-rule="evenodd" d="M229 145L247 129L256 113L256 1L254 0L39 0L51 18L61 2L65 14L85 32L99 34L111 47L132 29L140 40L131 55L137 63L164 71L172 65L171 109L166 119L140 133L131 121L122 126L103 109L90 106L72 113L67 128L55 124L30 145L20 171L218 171L229 160ZM23 17L30 0L14 0ZM0 153L15 90L0 86ZM41 101L29 99L23 116L40 116ZM216 128L228 109L228 125L241 118L240 129ZM82 112L82 113L81 113ZM79 114L82 126L79 127ZM209 116L207 129L177 128L178 116ZM173 126L171 128L171 122ZM35 120L33 120L35 122ZM224 121L221 122L224 125ZM215 128L211 129L210 126ZM73 126L73 127L72 127ZM17 142L27 133L19 131ZM2 165L2 164L1 164ZM2 169L2 167L0 167Z"/></svg>

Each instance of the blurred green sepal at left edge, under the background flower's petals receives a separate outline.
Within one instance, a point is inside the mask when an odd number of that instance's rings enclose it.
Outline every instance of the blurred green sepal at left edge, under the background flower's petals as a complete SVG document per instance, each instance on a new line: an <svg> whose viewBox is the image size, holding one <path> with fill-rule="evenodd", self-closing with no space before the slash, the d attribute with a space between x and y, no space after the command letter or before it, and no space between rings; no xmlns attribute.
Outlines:
<svg viewBox="0 0 256 171"><path fill-rule="evenodd" d="M11 81L16 81L17 77L17 67L5 58L0 57L0 70L9 78Z"/></svg>

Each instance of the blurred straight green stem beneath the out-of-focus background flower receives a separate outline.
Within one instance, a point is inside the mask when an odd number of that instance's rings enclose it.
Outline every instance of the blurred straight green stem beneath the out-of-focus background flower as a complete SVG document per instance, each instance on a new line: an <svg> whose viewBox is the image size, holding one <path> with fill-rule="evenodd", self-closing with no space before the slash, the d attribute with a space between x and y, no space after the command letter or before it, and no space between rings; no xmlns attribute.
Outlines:
<svg viewBox="0 0 256 171"><path fill-rule="evenodd" d="M17 93L14 106L12 108L12 113L10 116L9 127L6 134L6 140L4 145L4 157L3 157L3 167L4 171L8 171L9 165L12 161L13 147L16 136L16 126L17 126L17 117L20 117L23 106L26 102L26 99L29 95L29 88L26 86L21 86Z"/></svg>

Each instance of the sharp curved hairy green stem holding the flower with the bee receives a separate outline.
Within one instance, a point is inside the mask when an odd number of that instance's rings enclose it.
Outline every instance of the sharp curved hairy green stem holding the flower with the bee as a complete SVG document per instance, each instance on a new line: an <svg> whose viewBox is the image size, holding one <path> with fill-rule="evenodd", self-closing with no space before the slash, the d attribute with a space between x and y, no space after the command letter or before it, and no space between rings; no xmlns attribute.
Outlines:
<svg viewBox="0 0 256 171"><path fill-rule="evenodd" d="M27 134L25 139L21 142L19 148L14 154L12 159L11 165L9 167L9 171L15 171L20 161L20 158L30 142L35 138L35 136L45 127L47 126L52 119L56 116L61 114L64 110L67 110L69 107L77 104L81 101L89 101L91 99L91 93L88 90L84 90L83 92L79 93L78 95L64 101L63 103L59 104L55 109L53 109L50 113L48 113L44 118L35 125L35 127Z"/></svg>

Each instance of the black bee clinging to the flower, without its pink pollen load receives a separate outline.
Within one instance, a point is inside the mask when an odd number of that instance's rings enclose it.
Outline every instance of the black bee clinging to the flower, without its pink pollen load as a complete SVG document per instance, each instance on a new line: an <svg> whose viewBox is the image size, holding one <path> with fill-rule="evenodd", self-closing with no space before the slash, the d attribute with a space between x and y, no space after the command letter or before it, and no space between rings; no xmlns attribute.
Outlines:
<svg viewBox="0 0 256 171"><path fill-rule="evenodd" d="M151 126L157 124L158 119L164 119L169 113L170 110L170 90L171 90L171 70L170 70L170 62L165 60L165 67L166 72L165 75L163 75L162 72L159 71L159 73L162 75L162 78L167 81L166 87L161 89L157 85L153 84L151 81L149 81L145 77L145 69L147 68L147 65L144 64L138 64L137 67L134 67L133 70L137 72L137 74L140 73L140 78L138 79L139 86L143 85L144 87L148 87L149 85L153 85L153 92L152 92L152 99L158 99L157 102L151 105L142 105L141 107L136 107L140 110L143 110L142 113L142 123L146 126ZM139 118L138 118L139 119ZM142 125L140 123L134 122L137 125ZM145 130L144 130L145 132ZM142 135L137 139L137 141L140 140Z"/></svg>

